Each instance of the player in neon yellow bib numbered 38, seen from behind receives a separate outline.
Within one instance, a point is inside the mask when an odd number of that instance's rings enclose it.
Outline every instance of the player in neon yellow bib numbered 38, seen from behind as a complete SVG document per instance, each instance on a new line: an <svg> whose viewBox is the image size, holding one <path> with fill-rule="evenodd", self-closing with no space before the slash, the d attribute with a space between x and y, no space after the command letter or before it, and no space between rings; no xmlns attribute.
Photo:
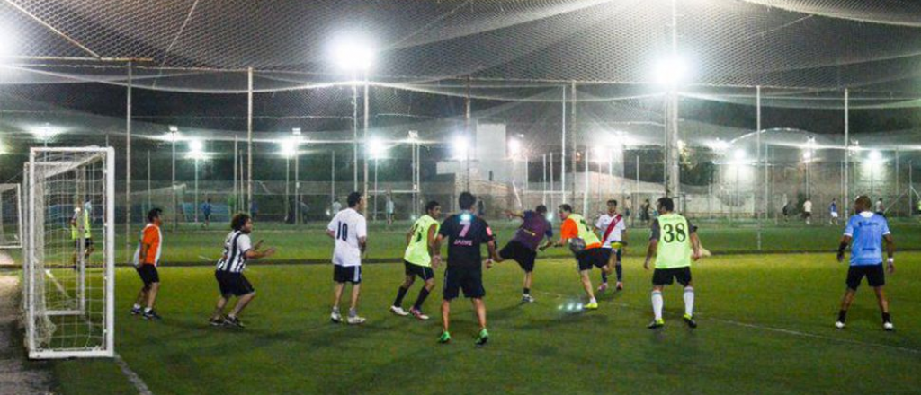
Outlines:
<svg viewBox="0 0 921 395"><path fill-rule="evenodd" d="M674 280L684 287L684 322L696 328L694 321L694 283L691 279L691 261L700 259L700 239L697 228L686 218L674 213L675 203L670 197L661 197L657 203L659 218L652 221L652 235L643 268L649 270L649 261L656 255L656 270L652 274L652 311L655 320L647 328L665 325L662 320L662 288Z"/></svg>

